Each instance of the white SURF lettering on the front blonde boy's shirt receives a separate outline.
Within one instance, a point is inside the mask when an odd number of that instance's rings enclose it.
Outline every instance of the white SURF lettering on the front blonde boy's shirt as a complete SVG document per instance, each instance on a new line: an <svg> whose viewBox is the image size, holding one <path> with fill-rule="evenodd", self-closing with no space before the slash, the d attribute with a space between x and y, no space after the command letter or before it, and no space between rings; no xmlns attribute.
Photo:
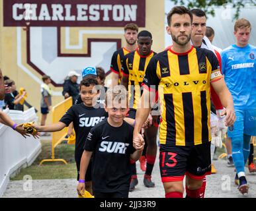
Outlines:
<svg viewBox="0 0 256 211"><path fill-rule="evenodd" d="M127 146L130 144L123 142L101 142L101 147L99 148L100 152L108 152L108 153L119 153L125 154Z"/></svg>

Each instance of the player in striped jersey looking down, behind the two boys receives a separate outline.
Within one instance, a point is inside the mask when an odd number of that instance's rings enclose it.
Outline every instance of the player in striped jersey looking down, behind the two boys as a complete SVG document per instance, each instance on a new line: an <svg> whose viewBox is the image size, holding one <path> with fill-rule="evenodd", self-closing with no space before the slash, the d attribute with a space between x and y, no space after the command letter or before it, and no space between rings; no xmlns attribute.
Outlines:
<svg viewBox="0 0 256 211"><path fill-rule="evenodd" d="M130 110L128 111L128 118L130 119L135 119L136 109L138 109L138 102L140 101L140 96L143 92L141 88L142 80L150 59L156 54L151 50L151 45L151 33L146 30L141 31L138 34L138 49L128 53L124 57L124 62L122 63L121 84L128 88L130 107ZM158 118L159 116L153 116L155 125L151 125L151 127L145 131L146 142L148 144L146 150L146 171L144 175L144 185L146 187L155 187L155 184L151 181L151 173L153 170L153 165L155 164L155 156L157 154L156 137ZM131 163L133 173L130 182L130 191L133 191L135 186L138 184L138 179L136 173L136 163L133 161L131 161Z"/></svg>

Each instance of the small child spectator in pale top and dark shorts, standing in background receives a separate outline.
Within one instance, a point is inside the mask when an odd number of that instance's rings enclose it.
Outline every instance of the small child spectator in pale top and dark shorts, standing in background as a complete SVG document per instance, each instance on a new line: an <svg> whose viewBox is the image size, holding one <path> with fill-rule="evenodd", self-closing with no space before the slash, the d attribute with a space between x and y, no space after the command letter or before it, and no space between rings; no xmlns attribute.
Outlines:
<svg viewBox="0 0 256 211"><path fill-rule="evenodd" d="M41 113L42 113L42 119L41 119L41 125L46 124L46 118L47 114L49 113L51 107L52 107L52 90L48 86L51 82L51 78L48 75L42 76L42 81L44 82L41 84L41 94L42 94L42 100L41 100ZM42 136L48 136L49 133L42 133Z"/></svg>

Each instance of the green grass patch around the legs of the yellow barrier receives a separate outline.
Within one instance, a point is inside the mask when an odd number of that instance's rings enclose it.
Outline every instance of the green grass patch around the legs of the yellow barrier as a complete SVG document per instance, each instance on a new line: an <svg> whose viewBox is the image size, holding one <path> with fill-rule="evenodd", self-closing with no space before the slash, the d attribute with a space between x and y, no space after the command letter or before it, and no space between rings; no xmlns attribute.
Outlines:
<svg viewBox="0 0 256 211"><path fill-rule="evenodd" d="M34 163L21 169L20 173L11 180L22 180L24 175L30 175L32 179L71 179L77 177L77 168L74 158L74 144L59 144L55 148L55 158L64 159L67 164L63 162L45 162L39 166L43 159L50 159L52 156L52 142L44 140L42 143L42 152L36 158Z"/></svg>

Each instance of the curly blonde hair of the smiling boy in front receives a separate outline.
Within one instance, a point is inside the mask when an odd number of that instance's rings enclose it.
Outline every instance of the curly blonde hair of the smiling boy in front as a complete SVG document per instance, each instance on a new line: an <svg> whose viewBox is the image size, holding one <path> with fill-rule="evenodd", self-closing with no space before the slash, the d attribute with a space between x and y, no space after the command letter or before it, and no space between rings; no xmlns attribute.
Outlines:
<svg viewBox="0 0 256 211"><path fill-rule="evenodd" d="M113 102L118 104L125 102L128 106L128 92L124 86L116 85L114 88L108 88L105 96L105 105L111 107Z"/></svg>

